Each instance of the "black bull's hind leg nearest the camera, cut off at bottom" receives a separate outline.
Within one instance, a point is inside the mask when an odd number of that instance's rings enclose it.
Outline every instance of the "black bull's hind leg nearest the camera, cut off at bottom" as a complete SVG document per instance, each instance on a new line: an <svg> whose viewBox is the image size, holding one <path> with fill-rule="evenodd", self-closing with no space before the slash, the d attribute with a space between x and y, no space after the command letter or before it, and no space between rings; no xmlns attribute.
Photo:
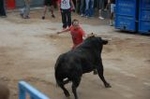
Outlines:
<svg viewBox="0 0 150 99"><path fill-rule="evenodd" d="M78 99L77 96L77 87L79 86L81 78L76 78L72 81L72 92L74 94L75 99Z"/></svg>

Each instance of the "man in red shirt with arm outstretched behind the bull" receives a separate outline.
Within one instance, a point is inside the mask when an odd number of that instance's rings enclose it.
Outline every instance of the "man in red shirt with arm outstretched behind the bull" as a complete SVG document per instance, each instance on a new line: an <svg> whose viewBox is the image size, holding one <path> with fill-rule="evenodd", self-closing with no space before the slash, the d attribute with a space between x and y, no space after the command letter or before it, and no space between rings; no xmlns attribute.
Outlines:
<svg viewBox="0 0 150 99"><path fill-rule="evenodd" d="M57 34L63 33L63 32L68 32L70 31L70 34L72 36L72 41L73 41L73 47L72 49L76 48L80 43L83 42L83 38L85 37L85 32L79 25L79 21L77 19L74 19L72 21L72 25L60 32L57 32Z"/></svg>

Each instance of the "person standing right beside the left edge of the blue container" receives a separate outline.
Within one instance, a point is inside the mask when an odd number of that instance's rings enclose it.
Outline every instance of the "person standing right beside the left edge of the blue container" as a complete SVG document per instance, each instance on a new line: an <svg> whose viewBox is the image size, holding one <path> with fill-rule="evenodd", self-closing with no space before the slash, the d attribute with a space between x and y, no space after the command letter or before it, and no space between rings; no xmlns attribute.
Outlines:
<svg viewBox="0 0 150 99"><path fill-rule="evenodd" d="M108 0L108 3L110 4L110 20L109 20L109 25L113 26L114 25L114 9L115 9L115 1L116 0Z"/></svg>

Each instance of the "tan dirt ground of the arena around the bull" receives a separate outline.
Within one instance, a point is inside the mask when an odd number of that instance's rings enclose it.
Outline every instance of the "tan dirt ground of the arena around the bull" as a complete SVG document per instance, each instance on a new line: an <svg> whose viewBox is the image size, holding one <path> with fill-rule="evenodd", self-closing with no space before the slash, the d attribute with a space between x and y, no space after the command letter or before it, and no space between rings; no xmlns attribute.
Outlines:
<svg viewBox="0 0 150 99"><path fill-rule="evenodd" d="M51 99L68 99L56 87L54 64L57 57L72 46L69 33L61 30L61 17L49 15L41 20L42 11L31 11L31 19L21 19L18 12L0 18L0 81L8 85L10 99L18 98L18 82L24 80ZM106 89L97 75L82 77L79 99L150 99L150 37L115 30L108 20L83 18L86 33L109 40L102 52L104 75L112 88ZM70 84L66 85L74 99Z"/></svg>

